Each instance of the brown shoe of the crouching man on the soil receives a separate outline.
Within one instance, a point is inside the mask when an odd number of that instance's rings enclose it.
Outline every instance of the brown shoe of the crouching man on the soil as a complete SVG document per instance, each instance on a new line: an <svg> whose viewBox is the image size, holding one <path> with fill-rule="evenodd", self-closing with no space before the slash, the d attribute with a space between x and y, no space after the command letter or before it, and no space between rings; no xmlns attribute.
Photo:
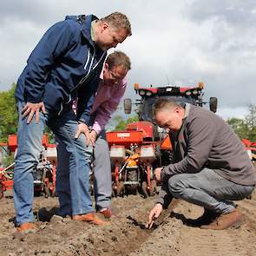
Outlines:
<svg viewBox="0 0 256 256"><path fill-rule="evenodd" d="M233 211L229 213L221 214L209 225L202 225L200 228L222 230L228 227L239 227L241 225L242 219L242 213L240 213L237 209L233 209Z"/></svg>

